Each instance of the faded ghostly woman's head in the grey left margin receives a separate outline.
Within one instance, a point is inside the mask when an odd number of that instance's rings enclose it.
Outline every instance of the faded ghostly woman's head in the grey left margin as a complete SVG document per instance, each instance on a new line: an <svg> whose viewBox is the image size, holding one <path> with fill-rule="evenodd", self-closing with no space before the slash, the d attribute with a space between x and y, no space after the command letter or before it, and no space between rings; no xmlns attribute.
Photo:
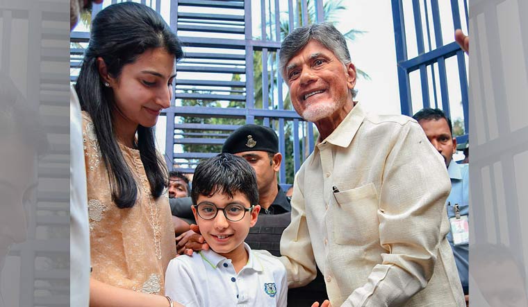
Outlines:
<svg viewBox="0 0 528 307"><path fill-rule="evenodd" d="M27 206L38 182L37 159L49 144L36 110L11 78L0 71L0 272L11 245L27 238ZM0 293L0 306L4 306Z"/></svg>

